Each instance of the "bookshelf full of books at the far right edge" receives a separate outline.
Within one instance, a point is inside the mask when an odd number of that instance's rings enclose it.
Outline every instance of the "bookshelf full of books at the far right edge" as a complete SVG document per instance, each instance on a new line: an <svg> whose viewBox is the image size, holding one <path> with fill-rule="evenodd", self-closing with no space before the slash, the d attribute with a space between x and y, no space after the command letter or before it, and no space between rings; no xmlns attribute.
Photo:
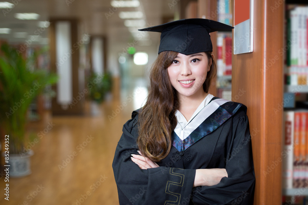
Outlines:
<svg viewBox="0 0 308 205"><path fill-rule="evenodd" d="M282 204L293 199L292 204L304 205L308 196L308 3L286 1L285 14L282 142L283 152L288 149L289 154L283 159Z"/></svg>

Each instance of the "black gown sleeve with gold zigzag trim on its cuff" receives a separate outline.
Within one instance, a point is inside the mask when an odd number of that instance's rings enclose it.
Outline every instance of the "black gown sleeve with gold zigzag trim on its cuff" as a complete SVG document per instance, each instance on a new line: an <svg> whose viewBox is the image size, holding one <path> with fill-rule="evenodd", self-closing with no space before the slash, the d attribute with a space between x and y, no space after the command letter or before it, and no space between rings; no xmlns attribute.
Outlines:
<svg viewBox="0 0 308 205"><path fill-rule="evenodd" d="M138 155L137 116L133 112L132 119L124 124L112 163L120 205L181 204L185 199L189 201L195 169L140 169L132 162L131 154Z"/></svg>

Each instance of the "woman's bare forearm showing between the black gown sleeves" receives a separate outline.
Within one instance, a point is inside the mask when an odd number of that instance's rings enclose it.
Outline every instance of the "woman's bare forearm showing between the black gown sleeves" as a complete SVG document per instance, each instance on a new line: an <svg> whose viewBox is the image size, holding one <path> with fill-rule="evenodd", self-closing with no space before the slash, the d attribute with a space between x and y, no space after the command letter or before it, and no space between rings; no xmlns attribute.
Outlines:
<svg viewBox="0 0 308 205"><path fill-rule="evenodd" d="M213 186L218 184L223 177L228 177L226 169L197 169L193 187Z"/></svg>

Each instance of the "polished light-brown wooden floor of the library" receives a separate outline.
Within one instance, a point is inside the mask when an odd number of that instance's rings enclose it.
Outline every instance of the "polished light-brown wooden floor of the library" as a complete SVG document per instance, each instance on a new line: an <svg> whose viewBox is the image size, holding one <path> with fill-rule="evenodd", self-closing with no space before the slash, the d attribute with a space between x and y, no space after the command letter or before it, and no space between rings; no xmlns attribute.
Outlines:
<svg viewBox="0 0 308 205"><path fill-rule="evenodd" d="M29 132L35 135L44 129L47 131L48 123L53 127L42 139L36 136L39 143L32 148L32 174L10 178L9 201L4 199L4 178L0 179L0 204L119 204L111 164L122 126L134 109L134 101L127 100L128 105L117 110L122 103L104 102L100 116L52 117L47 113L42 122L30 124ZM88 103L86 107L88 110ZM115 116L115 112L119 113ZM108 115L112 113L115 117L109 120ZM70 160L73 152L77 155Z"/></svg>

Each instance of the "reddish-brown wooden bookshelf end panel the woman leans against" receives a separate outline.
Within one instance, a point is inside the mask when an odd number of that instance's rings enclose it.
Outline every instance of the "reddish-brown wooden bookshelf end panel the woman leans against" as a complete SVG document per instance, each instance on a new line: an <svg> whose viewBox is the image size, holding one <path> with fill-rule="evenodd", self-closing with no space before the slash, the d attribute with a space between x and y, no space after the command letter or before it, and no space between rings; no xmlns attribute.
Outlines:
<svg viewBox="0 0 308 205"><path fill-rule="evenodd" d="M255 205L280 205L282 200L283 110L278 105L283 99L283 55L279 51L283 48L285 7L282 3L277 8L275 2L254 1L253 52L232 56L232 100L248 108ZM272 11L271 6L277 9Z"/></svg>

